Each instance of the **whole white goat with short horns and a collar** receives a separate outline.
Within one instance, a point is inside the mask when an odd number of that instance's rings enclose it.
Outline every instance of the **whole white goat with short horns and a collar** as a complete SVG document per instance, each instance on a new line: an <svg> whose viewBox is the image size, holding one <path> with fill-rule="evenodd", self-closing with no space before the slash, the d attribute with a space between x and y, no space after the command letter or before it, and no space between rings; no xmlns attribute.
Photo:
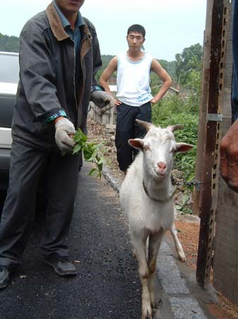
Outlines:
<svg viewBox="0 0 238 319"><path fill-rule="evenodd" d="M129 167L121 184L120 202L129 218L131 241L138 261L142 284L141 318L152 319L152 308L156 306L154 275L157 252L166 230L170 230L174 237L179 259L185 260L174 226L174 194L170 172L173 153L187 152L192 145L175 141L173 132L182 128L182 125L157 128L150 123L136 121L143 125L148 133L143 139L129 140L129 144L141 152Z"/></svg>

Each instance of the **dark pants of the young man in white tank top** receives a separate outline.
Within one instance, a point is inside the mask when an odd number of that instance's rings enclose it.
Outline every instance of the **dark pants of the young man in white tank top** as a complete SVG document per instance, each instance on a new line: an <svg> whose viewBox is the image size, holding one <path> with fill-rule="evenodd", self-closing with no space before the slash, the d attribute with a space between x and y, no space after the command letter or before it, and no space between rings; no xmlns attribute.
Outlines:
<svg viewBox="0 0 238 319"><path fill-rule="evenodd" d="M136 118L141 121L151 122L150 102L142 106L129 106L122 103L117 106L116 147L119 169L126 171L133 162L138 150L128 143L130 138L143 138L146 134L144 128L136 123Z"/></svg>

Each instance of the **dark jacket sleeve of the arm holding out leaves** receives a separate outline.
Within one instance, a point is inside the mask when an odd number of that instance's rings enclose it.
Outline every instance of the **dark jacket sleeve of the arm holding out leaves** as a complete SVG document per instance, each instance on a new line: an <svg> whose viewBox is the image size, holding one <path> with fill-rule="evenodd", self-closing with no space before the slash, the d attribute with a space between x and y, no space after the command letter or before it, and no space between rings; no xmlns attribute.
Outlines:
<svg viewBox="0 0 238 319"><path fill-rule="evenodd" d="M20 35L20 81L35 117L45 121L62 111L56 96L54 57L43 33L31 31Z"/></svg>

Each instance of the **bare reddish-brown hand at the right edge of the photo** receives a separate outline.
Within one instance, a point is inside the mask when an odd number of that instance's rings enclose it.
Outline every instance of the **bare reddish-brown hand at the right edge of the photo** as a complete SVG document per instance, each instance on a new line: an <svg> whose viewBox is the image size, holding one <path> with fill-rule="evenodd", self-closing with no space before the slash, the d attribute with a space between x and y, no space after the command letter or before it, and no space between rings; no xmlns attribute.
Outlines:
<svg viewBox="0 0 238 319"><path fill-rule="evenodd" d="M238 120L220 142L220 174L230 189L238 193Z"/></svg>

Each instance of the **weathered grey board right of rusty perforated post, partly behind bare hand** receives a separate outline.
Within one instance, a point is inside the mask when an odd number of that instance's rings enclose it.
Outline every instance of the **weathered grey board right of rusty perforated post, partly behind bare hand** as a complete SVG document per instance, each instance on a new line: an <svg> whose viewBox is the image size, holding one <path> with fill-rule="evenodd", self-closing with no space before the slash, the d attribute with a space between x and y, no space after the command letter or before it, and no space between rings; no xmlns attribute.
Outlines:
<svg viewBox="0 0 238 319"><path fill-rule="evenodd" d="M225 24L225 26L224 26ZM224 0L222 49L223 89L220 94L222 107L221 137L231 125L231 86L232 86L232 3ZM222 52L223 53L223 52ZM220 99L219 99L220 100ZM238 194L232 191L225 181L219 178L218 207L215 218L215 242L213 255L213 286L223 296L238 306Z"/></svg>

